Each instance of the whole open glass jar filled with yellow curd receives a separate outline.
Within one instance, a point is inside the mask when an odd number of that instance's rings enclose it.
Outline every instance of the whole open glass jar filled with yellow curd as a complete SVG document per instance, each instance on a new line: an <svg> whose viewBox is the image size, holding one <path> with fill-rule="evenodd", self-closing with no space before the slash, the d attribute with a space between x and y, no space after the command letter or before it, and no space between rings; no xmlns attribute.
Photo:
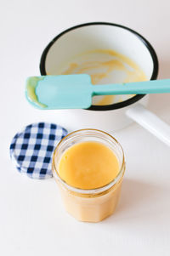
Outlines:
<svg viewBox="0 0 170 256"><path fill-rule="evenodd" d="M110 134L90 128L68 134L55 148L52 169L73 217L99 222L115 212L125 160Z"/></svg>

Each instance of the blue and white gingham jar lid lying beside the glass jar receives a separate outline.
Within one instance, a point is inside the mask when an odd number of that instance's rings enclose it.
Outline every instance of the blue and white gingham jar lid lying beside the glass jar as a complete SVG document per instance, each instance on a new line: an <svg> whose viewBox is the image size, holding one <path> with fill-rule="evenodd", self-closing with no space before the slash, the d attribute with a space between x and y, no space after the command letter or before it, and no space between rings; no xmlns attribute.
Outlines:
<svg viewBox="0 0 170 256"><path fill-rule="evenodd" d="M51 178L54 148L66 134L65 128L54 123L37 122L26 126L10 145L14 165L30 178Z"/></svg>

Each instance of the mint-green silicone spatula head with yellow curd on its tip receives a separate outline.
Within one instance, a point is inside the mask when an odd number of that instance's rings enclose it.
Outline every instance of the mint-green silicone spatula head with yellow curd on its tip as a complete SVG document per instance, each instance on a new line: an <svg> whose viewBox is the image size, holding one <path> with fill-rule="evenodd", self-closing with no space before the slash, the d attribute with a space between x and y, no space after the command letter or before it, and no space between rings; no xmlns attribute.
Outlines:
<svg viewBox="0 0 170 256"><path fill-rule="evenodd" d="M26 98L40 109L76 109L92 105L93 85L90 76L61 75L29 77Z"/></svg>

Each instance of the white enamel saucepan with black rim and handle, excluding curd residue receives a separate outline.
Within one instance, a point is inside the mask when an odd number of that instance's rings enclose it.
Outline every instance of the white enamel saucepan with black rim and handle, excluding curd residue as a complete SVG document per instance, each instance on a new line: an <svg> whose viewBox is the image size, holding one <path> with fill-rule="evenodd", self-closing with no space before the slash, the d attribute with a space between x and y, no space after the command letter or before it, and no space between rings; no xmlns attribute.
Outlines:
<svg viewBox="0 0 170 256"><path fill-rule="evenodd" d="M123 54L139 65L148 80L157 77L158 60L150 43L136 31L105 22L82 24L61 32L42 53L41 74L58 75L61 66L69 60L96 49L112 49ZM54 111L54 114L57 122L69 131L98 128L111 133L135 121L170 145L170 128L146 109L148 100L148 95L133 95L111 105L92 105L88 110Z"/></svg>

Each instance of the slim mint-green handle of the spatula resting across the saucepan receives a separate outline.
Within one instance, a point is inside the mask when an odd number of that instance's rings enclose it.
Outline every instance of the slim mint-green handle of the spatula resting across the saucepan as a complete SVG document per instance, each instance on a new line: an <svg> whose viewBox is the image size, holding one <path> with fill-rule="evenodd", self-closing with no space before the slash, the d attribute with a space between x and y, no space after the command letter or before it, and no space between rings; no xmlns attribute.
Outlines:
<svg viewBox="0 0 170 256"><path fill-rule="evenodd" d="M94 86L94 95L170 93L170 79Z"/></svg>

